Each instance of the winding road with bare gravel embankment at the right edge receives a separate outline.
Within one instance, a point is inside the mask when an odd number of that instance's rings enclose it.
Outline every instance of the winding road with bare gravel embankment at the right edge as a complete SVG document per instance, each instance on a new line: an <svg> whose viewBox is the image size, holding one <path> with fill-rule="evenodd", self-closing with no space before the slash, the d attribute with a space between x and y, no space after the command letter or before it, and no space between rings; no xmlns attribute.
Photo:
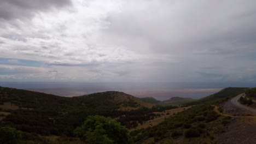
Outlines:
<svg viewBox="0 0 256 144"><path fill-rule="evenodd" d="M231 123L226 126L225 132L219 134L218 144L255 144L256 143L256 115L251 107L241 105L237 100L243 94L226 101L223 104L223 113L218 106L214 111L222 116L231 117Z"/></svg>

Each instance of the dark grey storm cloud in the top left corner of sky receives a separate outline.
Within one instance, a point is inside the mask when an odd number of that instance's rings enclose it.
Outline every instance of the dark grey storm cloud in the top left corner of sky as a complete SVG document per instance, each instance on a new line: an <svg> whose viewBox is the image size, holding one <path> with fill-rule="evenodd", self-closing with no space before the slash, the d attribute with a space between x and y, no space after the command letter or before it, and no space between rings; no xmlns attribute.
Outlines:
<svg viewBox="0 0 256 144"><path fill-rule="evenodd" d="M0 0L0 18L5 20L22 19L33 16L40 10L61 8L71 5L69 0Z"/></svg>

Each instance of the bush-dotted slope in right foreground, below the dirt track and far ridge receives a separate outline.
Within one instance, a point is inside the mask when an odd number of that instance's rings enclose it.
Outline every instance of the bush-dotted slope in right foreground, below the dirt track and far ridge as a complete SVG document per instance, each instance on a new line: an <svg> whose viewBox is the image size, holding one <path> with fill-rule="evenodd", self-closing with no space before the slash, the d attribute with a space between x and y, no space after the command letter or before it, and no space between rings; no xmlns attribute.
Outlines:
<svg viewBox="0 0 256 144"><path fill-rule="evenodd" d="M155 127L132 131L131 136L136 143L173 141L179 137L198 137L197 141L214 140L217 133L229 121L229 117L219 116L213 106L201 104L177 113Z"/></svg>

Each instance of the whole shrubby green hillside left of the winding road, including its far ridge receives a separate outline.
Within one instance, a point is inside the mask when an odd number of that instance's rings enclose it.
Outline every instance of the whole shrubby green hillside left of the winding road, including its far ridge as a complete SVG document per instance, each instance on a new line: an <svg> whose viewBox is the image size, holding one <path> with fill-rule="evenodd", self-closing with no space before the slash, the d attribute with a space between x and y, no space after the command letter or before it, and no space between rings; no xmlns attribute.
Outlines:
<svg viewBox="0 0 256 144"><path fill-rule="evenodd" d="M210 104L222 103L243 92L245 88L225 88L188 103L197 105L167 118L159 125L132 131L133 140L137 143L215 143L218 133L230 122L230 117L220 116Z"/></svg>

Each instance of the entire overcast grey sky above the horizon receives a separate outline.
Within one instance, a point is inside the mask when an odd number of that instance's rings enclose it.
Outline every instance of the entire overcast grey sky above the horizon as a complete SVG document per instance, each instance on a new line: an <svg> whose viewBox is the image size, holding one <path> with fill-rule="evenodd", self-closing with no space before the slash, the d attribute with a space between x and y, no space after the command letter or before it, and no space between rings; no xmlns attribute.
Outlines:
<svg viewBox="0 0 256 144"><path fill-rule="evenodd" d="M0 81L256 81L254 0L0 0L0 21Z"/></svg>

